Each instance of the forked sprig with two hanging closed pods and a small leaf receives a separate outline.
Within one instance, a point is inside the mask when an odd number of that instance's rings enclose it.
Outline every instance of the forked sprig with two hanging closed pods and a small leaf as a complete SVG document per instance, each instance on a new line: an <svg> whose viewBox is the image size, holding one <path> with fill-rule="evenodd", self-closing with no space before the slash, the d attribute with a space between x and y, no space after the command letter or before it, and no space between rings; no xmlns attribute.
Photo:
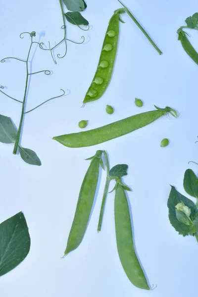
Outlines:
<svg viewBox="0 0 198 297"><path fill-rule="evenodd" d="M128 165L118 164L112 167L109 171L108 156L103 150L97 150L94 156L87 159L91 160L91 163L81 185L76 211L68 236L64 256L80 246L87 230L92 213L93 202L96 196L96 189L99 182L100 166L104 169L102 154L104 154L105 157L107 179L99 216L99 230L101 229L101 221L104 212L104 204L107 196L108 185L110 180L114 180L115 187L112 191L115 190L115 233L120 262L127 277L134 286L144 290L150 290L145 273L139 262L133 244L129 204L125 193L125 191L131 191L131 189L122 182L122 177L127 175ZM131 265L131 263L133 265Z"/></svg>

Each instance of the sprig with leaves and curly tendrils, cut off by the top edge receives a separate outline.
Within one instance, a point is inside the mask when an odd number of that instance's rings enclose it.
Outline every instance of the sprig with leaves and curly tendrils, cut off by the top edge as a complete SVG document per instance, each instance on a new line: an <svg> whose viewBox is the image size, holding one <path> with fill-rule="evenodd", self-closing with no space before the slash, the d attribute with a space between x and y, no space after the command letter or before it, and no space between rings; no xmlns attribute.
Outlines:
<svg viewBox="0 0 198 297"><path fill-rule="evenodd" d="M64 8L63 8L63 2L66 5L68 10L71 10L72 12L64 12ZM80 28L83 31L88 31L89 30L89 22L80 14L79 11L83 11L87 5L83 0L79 0L78 3L74 3L73 0L59 0L59 4L60 4L60 9L61 9L61 14L62 14L62 20L63 20L63 25L61 26L61 29L64 30L64 35L63 38L61 39L61 41L59 41L54 47L50 47L50 42L49 42L49 48L45 49L44 48L44 43L40 44L40 48L43 50L49 50L51 53L51 57L54 61L55 64L57 64L54 56L53 56L53 50L56 49L57 47L59 47L62 43L65 44L65 52L63 55L60 55L59 53L57 54L57 58L61 59L64 58L66 53L67 53L67 41L70 41L72 43L75 44L83 44L85 41L85 37L82 36L82 42L75 42L71 39L67 38L67 27L66 27L66 20L73 24L76 25L78 28ZM75 10L73 10L75 9ZM66 19L66 20L65 20ZM86 29L84 29L83 27L81 27L81 25L84 25Z"/></svg>

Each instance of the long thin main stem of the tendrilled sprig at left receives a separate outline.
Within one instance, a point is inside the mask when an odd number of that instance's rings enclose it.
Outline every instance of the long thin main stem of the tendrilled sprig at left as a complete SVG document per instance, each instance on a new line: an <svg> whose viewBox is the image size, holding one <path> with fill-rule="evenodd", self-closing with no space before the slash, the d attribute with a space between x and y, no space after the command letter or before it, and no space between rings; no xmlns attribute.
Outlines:
<svg viewBox="0 0 198 297"><path fill-rule="evenodd" d="M26 97L27 97L27 88L28 88L28 79L29 79L29 73L28 73L28 59L29 59L29 55L30 55L30 51L32 48L32 39L33 37L31 36L31 45L30 45L30 49L28 51L28 56L27 56L27 60L25 61L26 63L26 83L25 83L25 92L24 92L24 97L23 97L23 105L22 105L22 111L21 111L21 119L20 119L20 123L19 123L19 128L18 128L18 133L16 136L16 142L14 144L14 149L13 149L13 154L17 153L17 149L19 146L19 140L20 140L20 136L21 136L21 128L22 128L22 124L23 124L23 117L24 117L24 110L25 110L25 101L26 101Z"/></svg>

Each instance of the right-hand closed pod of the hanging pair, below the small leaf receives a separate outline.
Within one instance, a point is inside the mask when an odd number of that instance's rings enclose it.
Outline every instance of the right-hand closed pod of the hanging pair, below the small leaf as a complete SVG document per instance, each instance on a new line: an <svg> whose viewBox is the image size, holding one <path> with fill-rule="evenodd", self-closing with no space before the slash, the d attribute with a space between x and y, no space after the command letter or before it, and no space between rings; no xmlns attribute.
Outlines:
<svg viewBox="0 0 198 297"><path fill-rule="evenodd" d="M114 213L117 249L122 267L134 286L149 290L134 248L128 201L121 184L115 189Z"/></svg>

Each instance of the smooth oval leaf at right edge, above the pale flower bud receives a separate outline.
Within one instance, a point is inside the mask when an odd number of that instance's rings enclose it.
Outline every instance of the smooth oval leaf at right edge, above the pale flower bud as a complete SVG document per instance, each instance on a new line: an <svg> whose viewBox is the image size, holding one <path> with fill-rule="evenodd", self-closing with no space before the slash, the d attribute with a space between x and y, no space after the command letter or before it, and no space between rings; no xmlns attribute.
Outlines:
<svg viewBox="0 0 198 297"><path fill-rule="evenodd" d="M198 198L198 177L191 169L187 169L184 174L184 190L189 195Z"/></svg>

